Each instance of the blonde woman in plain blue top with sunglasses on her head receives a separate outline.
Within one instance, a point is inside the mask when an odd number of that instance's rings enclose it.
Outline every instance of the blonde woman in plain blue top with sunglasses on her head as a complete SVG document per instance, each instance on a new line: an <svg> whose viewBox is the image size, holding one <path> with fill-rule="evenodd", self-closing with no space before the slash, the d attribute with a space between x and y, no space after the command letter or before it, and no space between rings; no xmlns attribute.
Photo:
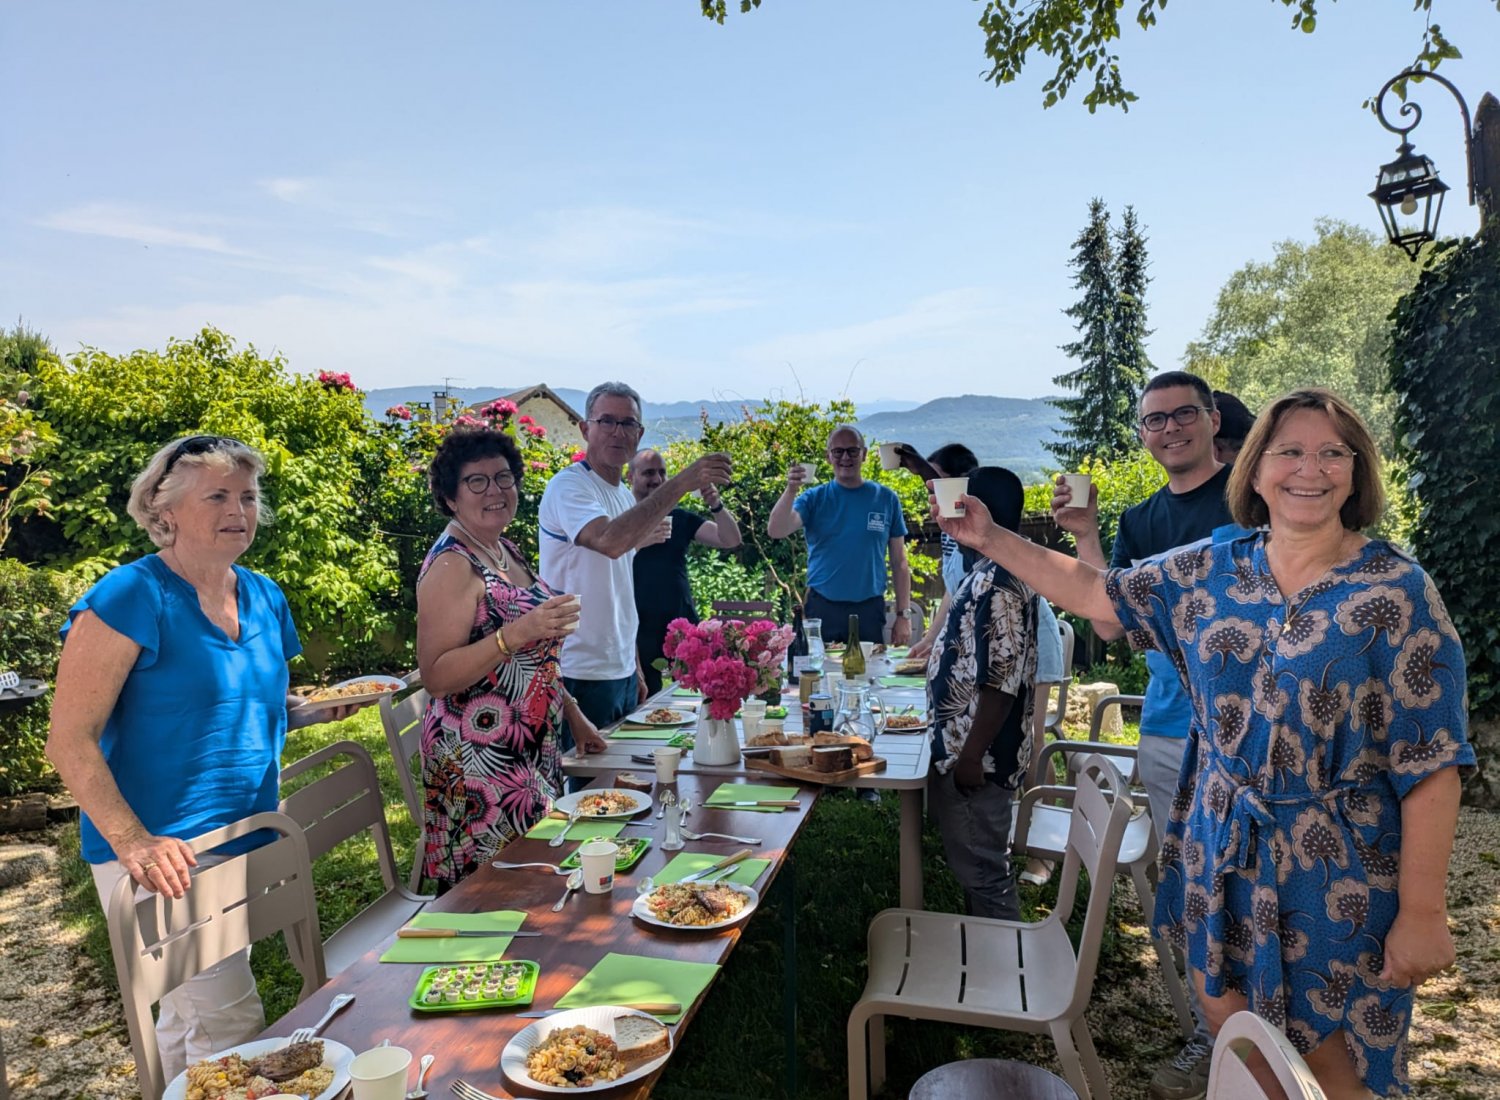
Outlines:
<svg viewBox="0 0 1500 1100"><path fill-rule="evenodd" d="M274 581L236 564L264 513L264 470L220 435L156 452L129 512L160 551L100 578L63 627L46 753L82 807L82 857L105 905L126 875L182 897L195 866L254 846L194 857L186 842L276 809L288 725L356 710L290 711L286 662L302 651L291 611ZM171 1079L262 1028L242 951L162 998L162 1068Z"/></svg>

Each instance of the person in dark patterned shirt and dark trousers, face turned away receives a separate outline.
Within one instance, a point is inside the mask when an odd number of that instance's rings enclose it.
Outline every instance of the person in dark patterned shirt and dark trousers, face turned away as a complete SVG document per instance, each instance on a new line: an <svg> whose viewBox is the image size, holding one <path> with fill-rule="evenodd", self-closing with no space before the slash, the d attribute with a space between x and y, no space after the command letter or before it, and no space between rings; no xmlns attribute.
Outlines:
<svg viewBox="0 0 1500 1100"><path fill-rule="evenodd" d="M1006 530L1020 525L1023 491L1010 470L972 470L969 494ZM1011 818L1030 765L1036 596L990 558L974 551L964 558L969 570L927 659L927 812L968 911L1020 920Z"/></svg>

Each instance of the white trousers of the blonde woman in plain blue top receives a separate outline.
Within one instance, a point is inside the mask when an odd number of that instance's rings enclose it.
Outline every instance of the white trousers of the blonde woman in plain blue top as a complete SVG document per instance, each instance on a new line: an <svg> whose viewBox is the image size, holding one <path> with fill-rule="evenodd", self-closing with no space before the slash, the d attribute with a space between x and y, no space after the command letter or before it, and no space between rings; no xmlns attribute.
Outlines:
<svg viewBox="0 0 1500 1100"><path fill-rule="evenodd" d="M200 855L198 866L212 866L222 858ZM94 863L92 867L94 887L108 915L114 884L129 872L118 860ZM146 893L140 887L136 890ZM170 1082L192 1062L248 1043L264 1029L266 1010L255 989L255 975L250 974L250 951L236 951L162 996L156 1017L162 1080Z"/></svg>

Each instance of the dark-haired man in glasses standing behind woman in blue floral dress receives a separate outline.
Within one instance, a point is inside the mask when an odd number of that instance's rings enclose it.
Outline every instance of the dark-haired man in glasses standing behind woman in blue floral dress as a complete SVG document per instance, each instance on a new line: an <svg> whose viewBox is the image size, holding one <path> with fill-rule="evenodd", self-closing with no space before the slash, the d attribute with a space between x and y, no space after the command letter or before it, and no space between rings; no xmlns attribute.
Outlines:
<svg viewBox="0 0 1500 1100"><path fill-rule="evenodd" d="M1198 539L1240 533L1224 501L1230 468L1214 458L1218 428L1214 392L1196 374L1167 371L1146 383L1140 395L1140 441L1167 471L1167 483L1120 516L1108 567L1130 566ZM1095 486L1089 488L1089 500L1077 504L1074 507L1072 494L1059 477L1052 497L1053 521L1072 533L1080 561L1104 569ZM1095 621L1094 630L1106 641L1124 636L1118 623ZM1160 840L1178 792L1192 707L1166 654L1149 650L1146 666L1150 681L1140 714L1138 768ZM1197 1032L1176 1058L1156 1070L1149 1088L1155 1100L1197 1100L1208 1091L1214 1040L1192 993L1190 984Z"/></svg>

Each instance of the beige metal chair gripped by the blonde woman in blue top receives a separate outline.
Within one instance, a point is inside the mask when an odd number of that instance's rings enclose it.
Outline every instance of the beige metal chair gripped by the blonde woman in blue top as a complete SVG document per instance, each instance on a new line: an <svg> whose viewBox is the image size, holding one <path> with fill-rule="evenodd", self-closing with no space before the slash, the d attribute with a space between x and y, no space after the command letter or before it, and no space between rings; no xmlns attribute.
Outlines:
<svg viewBox="0 0 1500 1100"><path fill-rule="evenodd" d="M258 830L270 830L274 839L222 863L200 866L180 899L136 893L129 875L110 896L110 947L141 1095L159 1097L166 1086L152 1005L188 978L258 939L285 932L302 972L297 999L306 999L326 980L308 840L296 821L285 813L252 813L188 843L202 854Z"/></svg>

